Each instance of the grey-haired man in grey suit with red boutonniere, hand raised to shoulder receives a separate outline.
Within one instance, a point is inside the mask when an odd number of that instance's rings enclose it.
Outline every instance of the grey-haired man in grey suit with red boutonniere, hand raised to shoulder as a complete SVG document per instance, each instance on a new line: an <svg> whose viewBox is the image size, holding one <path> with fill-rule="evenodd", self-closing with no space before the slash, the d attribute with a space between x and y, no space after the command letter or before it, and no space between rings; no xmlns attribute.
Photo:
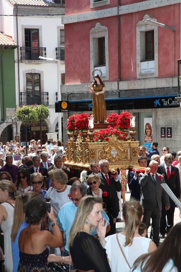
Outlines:
<svg viewBox="0 0 181 272"><path fill-rule="evenodd" d="M143 222L146 223L148 229L150 218L152 219L154 243L159 246L162 200L166 210L170 209L170 201L168 194L160 185L161 183L165 183L165 180L162 175L157 173L157 170L158 162L151 160L149 167L145 168L144 174L139 174L138 179L141 186L140 203L144 207Z"/></svg>

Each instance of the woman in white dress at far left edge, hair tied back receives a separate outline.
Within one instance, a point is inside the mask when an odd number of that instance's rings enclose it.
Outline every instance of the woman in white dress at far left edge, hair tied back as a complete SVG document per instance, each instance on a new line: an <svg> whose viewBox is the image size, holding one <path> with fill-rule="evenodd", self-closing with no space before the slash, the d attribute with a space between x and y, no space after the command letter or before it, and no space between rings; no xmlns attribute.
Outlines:
<svg viewBox="0 0 181 272"><path fill-rule="evenodd" d="M19 193L16 191L14 183L9 180L0 181L0 226L4 233L5 272L12 272L13 268L11 251L11 228L13 224L15 198L18 195Z"/></svg>

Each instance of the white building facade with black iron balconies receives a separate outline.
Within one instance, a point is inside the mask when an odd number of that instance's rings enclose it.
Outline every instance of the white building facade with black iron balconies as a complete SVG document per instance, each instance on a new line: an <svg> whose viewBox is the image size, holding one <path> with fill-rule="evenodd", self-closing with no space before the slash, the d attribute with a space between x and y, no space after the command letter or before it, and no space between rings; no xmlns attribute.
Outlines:
<svg viewBox="0 0 181 272"><path fill-rule="evenodd" d="M44 104L50 111L50 119L42 123L42 142L46 133L58 132L58 114L55 101L58 92L58 74L65 79L63 0L2 0L2 31L7 32L18 43L15 50L16 105ZM60 61L59 70L55 60ZM61 116L60 116L61 119ZM61 122L61 120L60 120ZM25 141L25 127L18 123L17 134ZM15 137L14 137L15 138ZM28 141L40 138L40 127L28 127ZM61 138L61 137L60 137Z"/></svg>

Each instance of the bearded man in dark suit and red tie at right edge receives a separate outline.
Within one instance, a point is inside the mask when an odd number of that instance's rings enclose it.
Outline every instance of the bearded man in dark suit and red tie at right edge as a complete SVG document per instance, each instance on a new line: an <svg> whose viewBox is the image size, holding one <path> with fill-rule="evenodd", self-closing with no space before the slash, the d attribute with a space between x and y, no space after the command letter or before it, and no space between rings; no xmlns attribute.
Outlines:
<svg viewBox="0 0 181 272"><path fill-rule="evenodd" d="M180 178L179 178L179 169L172 165L173 156L170 153L167 153L164 156L164 164L161 164L158 167L158 173L164 175L166 184L172 190L174 195L179 199L180 198ZM160 238L165 237L165 233L170 231L170 228L173 227L173 218L175 212L175 202L170 199L170 209L168 211L162 209L162 217L160 222ZM166 222L167 217L167 222Z"/></svg>

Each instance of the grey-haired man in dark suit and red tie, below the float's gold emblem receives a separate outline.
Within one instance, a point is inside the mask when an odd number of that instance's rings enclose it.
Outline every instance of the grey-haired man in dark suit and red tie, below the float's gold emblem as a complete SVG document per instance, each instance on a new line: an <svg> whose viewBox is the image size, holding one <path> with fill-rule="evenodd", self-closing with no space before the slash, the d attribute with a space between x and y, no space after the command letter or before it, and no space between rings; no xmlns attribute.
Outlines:
<svg viewBox="0 0 181 272"><path fill-rule="evenodd" d="M115 175L109 175L109 163L107 160L100 160L99 161L99 168L101 172L97 174L99 178L101 179L101 184L99 186L100 189L105 189L110 193L111 201L112 201L112 207L114 210L114 225L116 225L116 218L119 213L119 198L117 191L121 191L121 183L118 179L118 171L116 170ZM115 228L116 230L116 228Z"/></svg>

